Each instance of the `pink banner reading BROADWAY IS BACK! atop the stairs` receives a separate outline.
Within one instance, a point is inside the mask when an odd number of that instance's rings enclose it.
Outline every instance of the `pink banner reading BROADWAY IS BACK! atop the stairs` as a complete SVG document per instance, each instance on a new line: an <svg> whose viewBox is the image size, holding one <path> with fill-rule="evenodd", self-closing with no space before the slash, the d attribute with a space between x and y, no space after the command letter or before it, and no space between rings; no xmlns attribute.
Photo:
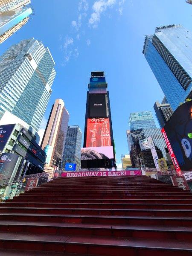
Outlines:
<svg viewBox="0 0 192 256"><path fill-rule="evenodd" d="M99 176L130 176L141 175L141 170L137 171L106 171L106 172L62 172L61 177L99 177Z"/></svg>

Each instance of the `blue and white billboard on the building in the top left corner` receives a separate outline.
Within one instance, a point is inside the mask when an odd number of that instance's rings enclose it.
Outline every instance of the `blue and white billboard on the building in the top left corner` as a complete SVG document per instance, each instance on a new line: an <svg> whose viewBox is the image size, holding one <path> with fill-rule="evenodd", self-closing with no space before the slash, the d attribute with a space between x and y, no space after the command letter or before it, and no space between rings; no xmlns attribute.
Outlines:
<svg viewBox="0 0 192 256"><path fill-rule="evenodd" d="M0 35L3 35L30 14L32 14L31 8L0 12Z"/></svg>

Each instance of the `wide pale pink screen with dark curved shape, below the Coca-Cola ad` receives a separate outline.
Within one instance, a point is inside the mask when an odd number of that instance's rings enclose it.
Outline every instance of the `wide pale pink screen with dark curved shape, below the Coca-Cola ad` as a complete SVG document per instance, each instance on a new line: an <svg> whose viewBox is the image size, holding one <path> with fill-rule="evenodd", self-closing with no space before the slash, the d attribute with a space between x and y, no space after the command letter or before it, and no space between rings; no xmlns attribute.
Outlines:
<svg viewBox="0 0 192 256"><path fill-rule="evenodd" d="M113 146L81 148L81 160L113 159Z"/></svg>

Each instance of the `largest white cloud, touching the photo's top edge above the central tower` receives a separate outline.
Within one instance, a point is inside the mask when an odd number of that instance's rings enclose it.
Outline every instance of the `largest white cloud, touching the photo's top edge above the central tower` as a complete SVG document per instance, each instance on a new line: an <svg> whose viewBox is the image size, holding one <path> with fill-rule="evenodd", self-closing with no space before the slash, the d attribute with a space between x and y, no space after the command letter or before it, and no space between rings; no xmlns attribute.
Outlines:
<svg viewBox="0 0 192 256"><path fill-rule="evenodd" d="M98 0L93 3L93 13L89 19L89 25L93 28L98 26L100 22L101 14L104 13L109 7L113 7L116 4L116 0Z"/></svg>

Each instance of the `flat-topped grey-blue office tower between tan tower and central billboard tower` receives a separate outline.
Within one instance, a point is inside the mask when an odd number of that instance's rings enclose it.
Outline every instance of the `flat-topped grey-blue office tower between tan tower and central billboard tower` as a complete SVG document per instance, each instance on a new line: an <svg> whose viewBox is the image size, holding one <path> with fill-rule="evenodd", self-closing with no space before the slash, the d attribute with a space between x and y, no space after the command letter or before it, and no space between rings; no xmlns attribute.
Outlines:
<svg viewBox="0 0 192 256"><path fill-rule="evenodd" d="M63 167L66 163L76 163L76 170L81 167L82 132L78 125L68 126L63 151Z"/></svg>

